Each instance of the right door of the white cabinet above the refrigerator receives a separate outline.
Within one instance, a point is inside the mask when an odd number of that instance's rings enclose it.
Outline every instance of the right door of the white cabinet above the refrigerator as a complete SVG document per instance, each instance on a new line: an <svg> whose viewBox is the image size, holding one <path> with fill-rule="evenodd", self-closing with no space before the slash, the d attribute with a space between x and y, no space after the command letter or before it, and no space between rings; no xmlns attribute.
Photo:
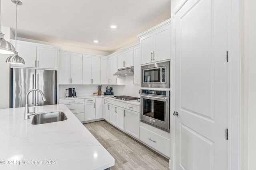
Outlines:
<svg viewBox="0 0 256 170"><path fill-rule="evenodd" d="M37 47L37 68L57 70L58 50L50 47Z"/></svg>

